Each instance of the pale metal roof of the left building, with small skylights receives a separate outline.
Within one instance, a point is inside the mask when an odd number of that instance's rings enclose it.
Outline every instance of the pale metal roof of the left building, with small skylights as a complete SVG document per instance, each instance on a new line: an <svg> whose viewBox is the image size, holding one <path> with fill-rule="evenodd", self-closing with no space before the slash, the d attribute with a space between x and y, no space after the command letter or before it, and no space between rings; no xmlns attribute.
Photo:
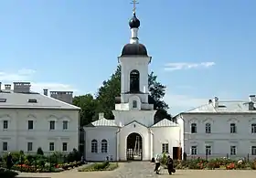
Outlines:
<svg viewBox="0 0 256 178"><path fill-rule="evenodd" d="M31 102L28 102L29 99ZM77 106L36 92L16 93L13 91L0 91L0 109L80 110Z"/></svg>

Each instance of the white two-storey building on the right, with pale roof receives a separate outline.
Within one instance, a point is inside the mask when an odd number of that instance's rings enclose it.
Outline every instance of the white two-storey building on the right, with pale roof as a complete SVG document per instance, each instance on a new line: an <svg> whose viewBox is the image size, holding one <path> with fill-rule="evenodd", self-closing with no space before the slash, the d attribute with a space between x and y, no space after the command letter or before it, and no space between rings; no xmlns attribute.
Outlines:
<svg viewBox="0 0 256 178"><path fill-rule="evenodd" d="M256 157L255 95L247 101L209 99L176 116L189 157Z"/></svg>

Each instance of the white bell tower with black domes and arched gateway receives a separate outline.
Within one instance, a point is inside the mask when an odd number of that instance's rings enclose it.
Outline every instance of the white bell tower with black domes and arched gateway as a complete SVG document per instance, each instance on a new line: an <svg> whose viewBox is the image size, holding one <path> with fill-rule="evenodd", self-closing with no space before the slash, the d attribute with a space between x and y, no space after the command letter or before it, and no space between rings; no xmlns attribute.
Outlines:
<svg viewBox="0 0 256 178"><path fill-rule="evenodd" d="M170 120L155 123L154 105L148 91L148 64L151 57L139 43L139 19L129 22L132 37L118 58L122 67L121 96L116 98L114 120L99 120L85 127L85 158L104 161L151 160L156 153L179 156L180 129Z"/></svg>

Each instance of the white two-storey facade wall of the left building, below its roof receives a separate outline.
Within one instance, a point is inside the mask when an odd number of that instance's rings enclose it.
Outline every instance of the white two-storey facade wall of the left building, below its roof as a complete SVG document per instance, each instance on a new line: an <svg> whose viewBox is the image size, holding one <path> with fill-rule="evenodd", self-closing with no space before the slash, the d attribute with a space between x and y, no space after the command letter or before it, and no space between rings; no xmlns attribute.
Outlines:
<svg viewBox="0 0 256 178"><path fill-rule="evenodd" d="M0 152L3 142L8 151L27 152L27 142L33 142L33 151L41 147L49 152L49 142L55 142L55 151L62 152L62 142L68 142L68 152L79 145L79 110L0 110ZM8 129L3 129L8 120ZM34 129L28 131L28 120L34 120ZM55 120L55 131L49 131L49 121ZM68 130L62 130L62 121L68 120Z"/></svg>

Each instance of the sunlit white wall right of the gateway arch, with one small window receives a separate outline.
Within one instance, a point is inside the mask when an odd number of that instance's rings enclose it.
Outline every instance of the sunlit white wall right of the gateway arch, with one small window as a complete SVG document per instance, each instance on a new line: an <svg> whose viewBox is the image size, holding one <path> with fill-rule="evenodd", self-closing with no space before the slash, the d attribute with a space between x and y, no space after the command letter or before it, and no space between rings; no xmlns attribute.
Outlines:
<svg viewBox="0 0 256 178"><path fill-rule="evenodd" d="M179 127L158 127L152 128L154 137L154 156L162 153L162 144L168 143L169 153L173 155L173 147L179 147Z"/></svg>

